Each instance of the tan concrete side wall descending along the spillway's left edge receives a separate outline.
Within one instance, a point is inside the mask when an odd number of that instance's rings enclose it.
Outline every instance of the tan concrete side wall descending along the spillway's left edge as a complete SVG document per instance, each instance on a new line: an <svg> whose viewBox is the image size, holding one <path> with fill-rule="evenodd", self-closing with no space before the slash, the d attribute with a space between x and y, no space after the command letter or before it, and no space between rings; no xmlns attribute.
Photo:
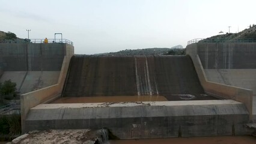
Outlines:
<svg viewBox="0 0 256 144"><path fill-rule="evenodd" d="M34 106L41 103L46 103L61 94L62 88L69 69L69 62L74 54L74 47L70 44L64 44L64 59L62 61L61 72L59 74L58 84L49 86L37 91L29 92L20 96L20 106L22 113L22 132L24 132L26 115ZM49 63L50 64L50 63Z"/></svg>

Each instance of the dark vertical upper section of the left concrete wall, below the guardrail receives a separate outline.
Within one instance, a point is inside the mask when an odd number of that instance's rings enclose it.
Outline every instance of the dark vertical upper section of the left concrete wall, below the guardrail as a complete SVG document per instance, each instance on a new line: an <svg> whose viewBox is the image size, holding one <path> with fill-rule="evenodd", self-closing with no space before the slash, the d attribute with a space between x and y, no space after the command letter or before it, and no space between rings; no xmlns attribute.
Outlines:
<svg viewBox="0 0 256 144"><path fill-rule="evenodd" d="M0 44L2 71L59 71L65 44Z"/></svg>

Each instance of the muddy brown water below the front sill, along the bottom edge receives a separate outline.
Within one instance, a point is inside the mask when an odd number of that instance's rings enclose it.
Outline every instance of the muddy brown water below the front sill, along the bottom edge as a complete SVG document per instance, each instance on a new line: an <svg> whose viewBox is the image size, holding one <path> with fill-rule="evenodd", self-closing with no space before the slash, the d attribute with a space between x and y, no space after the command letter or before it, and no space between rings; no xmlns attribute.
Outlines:
<svg viewBox="0 0 256 144"><path fill-rule="evenodd" d="M180 137L166 139L135 139L110 140L110 144L255 144L256 137L251 136L222 136L222 137Z"/></svg>

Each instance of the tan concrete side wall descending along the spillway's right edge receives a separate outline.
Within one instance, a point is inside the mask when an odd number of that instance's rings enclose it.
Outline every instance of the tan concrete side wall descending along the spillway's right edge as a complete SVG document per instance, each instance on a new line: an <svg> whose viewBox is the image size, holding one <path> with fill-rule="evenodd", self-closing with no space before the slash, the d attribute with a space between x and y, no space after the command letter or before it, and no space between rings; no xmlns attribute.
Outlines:
<svg viewBox="0 0 256 144"><path fill-rule="evenodd" d="M199 44L200 49L202 49L202 44ZM205 45L206 46L206 45ZM252 118L252 91L249 89L238 88L235 86L228 86L220 83L209 82L207 80L206 74L204 73L203 65L201 64L200 56L198 52L198 43L189 44L187 47L187 54L190 55L197 71L198 78L204 91L207 94L215 95L217 97L231 99L245 103L249 113L250 118Z"/></svg>

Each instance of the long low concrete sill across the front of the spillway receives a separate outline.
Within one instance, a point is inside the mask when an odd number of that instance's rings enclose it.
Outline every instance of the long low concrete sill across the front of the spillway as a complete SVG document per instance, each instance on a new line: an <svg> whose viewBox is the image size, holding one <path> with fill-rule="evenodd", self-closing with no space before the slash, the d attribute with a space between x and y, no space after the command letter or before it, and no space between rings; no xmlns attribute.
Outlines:
<svg viewBox="0 0 256 144"><path fill-rule="evenodd" d="M250 134L245 104L234 100L39 104L25 131L108 128L120 139Z"/></svg>

